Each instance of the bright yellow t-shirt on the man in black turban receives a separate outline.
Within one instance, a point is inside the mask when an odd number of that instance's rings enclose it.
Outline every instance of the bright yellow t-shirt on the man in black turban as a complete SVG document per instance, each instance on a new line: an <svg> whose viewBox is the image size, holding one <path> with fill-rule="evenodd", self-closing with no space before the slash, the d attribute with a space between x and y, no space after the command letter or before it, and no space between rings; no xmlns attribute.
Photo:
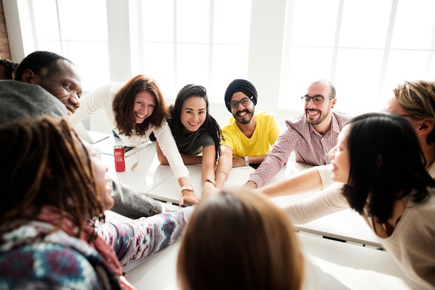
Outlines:
<svg viewBox="0 0 435 290"><path fill-rule="evenodd" d="M268 112L254 112L256 128L252 137L246 137L237 126L234 117L222 128L221 145L233 148L235 156L258 156L268 154L272 145L277 141L279 125L274 114Z"/></svg>

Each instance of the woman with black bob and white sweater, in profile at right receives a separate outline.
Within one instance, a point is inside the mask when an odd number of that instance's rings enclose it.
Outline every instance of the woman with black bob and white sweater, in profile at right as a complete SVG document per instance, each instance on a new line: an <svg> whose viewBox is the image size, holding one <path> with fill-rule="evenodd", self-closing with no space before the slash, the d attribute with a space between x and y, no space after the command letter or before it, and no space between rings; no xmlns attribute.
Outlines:
<svg viewBox="0 0 435 290"><path fill-rule="evenodd" d="M329 155L336 185L287 206L292 221L351 207L404 272L433 289L435 180L411 123L396 114L361 114L346 124Z"/></svg>

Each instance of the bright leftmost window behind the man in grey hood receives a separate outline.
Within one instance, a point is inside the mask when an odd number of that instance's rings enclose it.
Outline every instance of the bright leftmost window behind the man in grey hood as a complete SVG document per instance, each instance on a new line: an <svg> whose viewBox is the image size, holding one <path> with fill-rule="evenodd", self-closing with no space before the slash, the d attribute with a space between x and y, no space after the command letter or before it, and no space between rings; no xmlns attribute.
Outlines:
<svg viewBox="0 0 435 290"><path fill-rule="evenodd" d="M104 0L31 0L36 50L72 60L90 89L109 78L108 31Z"/></svg>

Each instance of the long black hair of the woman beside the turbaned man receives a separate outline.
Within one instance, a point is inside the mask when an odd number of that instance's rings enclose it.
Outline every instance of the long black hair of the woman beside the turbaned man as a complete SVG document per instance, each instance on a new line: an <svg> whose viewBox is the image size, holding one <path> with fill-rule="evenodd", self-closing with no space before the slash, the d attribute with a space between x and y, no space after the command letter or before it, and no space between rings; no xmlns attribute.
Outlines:
<svg viewBox="0 0 435 290"><path fill-rule="evenodd" d="M170 116L171 116L171 131L174 136L175 142L177 144L183 140L183 124L181 123L181 108L183 107L183 103L192 96L199 96L206 101L206 119L202 124L201 128L206 128L208 134L211 135L213 140L215 141L215 152L216 157L219 153L220 146L220 126L208 112L208 97L206 88L202 85L185 85L180 92L177 94L177 99L175 99L175 104L170 107Z"/></svg>

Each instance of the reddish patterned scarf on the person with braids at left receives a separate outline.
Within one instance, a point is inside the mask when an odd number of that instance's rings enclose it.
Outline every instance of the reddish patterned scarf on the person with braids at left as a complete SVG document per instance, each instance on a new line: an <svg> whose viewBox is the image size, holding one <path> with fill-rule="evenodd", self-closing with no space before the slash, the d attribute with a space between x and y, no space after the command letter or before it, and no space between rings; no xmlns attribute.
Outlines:
<svg viewBox="0 0 435 290"><path fill-rule="evenodd" d="M32 210L27 210L24 213L24 216L30 216ZM66 214L66 218L63 221L63 225L61 230L69 234L69 236L76 237L79 228L74 224L72 216L68 213ZM45 223L50 223L52 225L60 224L60 211L57 207L53 207L51 205L44 205L38 216L35 218L37 221L42 221ZM90 237L94 236L95 239L90 241ZM90 243L95 250L99 253L101 258L103 259L103 264L109 273L113 275L117 275L120 278L120 284L122 289L135 289L132 284L130 284L124 275L122 275L122 266L120 261L118 260L115 250L101 239L98 234L95 234L95 229L90 226L90 224L85 224L83 230L80 234L80 239Z"/></svg>

